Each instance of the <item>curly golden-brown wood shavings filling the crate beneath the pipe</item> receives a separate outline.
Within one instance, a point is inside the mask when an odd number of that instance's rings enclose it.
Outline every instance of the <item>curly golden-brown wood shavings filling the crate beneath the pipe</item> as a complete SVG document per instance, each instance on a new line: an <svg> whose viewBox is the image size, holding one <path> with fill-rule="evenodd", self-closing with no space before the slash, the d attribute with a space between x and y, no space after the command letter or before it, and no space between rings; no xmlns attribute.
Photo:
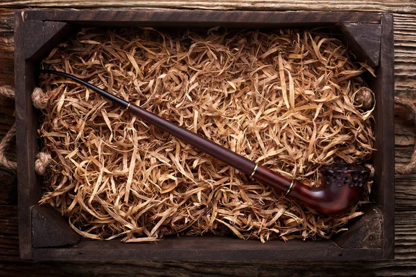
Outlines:
<svg viewBox="0 0 416 277"><path fill-rule="evenodd" d="M370 91L358 75L371 69L322 34L85 28L43 66L309 186L322 165L372 154L372 109L354 101ZM301 207L66 78L44 75L42 87L50 100L39 132L53 164L41 202L86 238L329 238L362 214Z"/></svg>

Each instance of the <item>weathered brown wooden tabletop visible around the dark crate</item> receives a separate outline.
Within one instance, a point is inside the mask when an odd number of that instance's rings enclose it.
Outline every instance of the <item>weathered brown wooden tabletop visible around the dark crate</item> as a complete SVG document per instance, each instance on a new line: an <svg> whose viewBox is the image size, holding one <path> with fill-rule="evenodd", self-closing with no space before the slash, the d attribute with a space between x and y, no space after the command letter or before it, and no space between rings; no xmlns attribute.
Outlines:
<svg viewBox="0 0 416 277"><path fill-rule="evenodd" d="M252 10L336 10L392 12L395 16L395 93L415 103L415 0L271 1L0 1L0 86L14 84L13 12L22 8L204 8ZM14 122L14 102L0 99L0 137ZM415 125L408 112L395 110L397 166L409 161ZM15 146L8 151L15 161ZM19 276L416 276L416 170L396 175L395 260L379 262L37 262L19 259L17 185L13 172L0 169L0 275ZM174 258L174 257L173 257Z"/></svg>

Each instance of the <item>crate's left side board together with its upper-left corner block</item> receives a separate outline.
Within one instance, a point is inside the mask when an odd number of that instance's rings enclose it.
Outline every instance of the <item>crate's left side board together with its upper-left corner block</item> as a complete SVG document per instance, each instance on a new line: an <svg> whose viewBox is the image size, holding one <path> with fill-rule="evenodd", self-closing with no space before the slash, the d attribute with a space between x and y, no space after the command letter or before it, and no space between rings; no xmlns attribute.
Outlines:
<svg viewBox="0 0 416 277"><path fill-rule="evenodd" d="M15 12L15 91L19 250L22 259L31 259L31 207L41 197L40 177L35 174L37 110L31 95L35 88L36 63L69 31L68 24L52 21L24 21ZM44 52L42 52L44 51Z"/></svg>

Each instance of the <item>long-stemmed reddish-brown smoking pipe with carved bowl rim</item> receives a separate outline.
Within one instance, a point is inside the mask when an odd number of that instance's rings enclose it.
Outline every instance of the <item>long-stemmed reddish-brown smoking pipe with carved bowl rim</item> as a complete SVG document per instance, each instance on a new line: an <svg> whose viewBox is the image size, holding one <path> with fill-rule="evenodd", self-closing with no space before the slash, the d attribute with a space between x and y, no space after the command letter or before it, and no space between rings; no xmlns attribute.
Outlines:
<svg viewBox="0 0 416 277"><path fill-rule="evenodd" d="M320 188L311 188L302 184L296 179L288 179L268 168L261 166L254 161L236 154L232 150L224 148L209 139L205 139L199 134L193 133L188 129L175 125L156 114L141 109L130 102L118 98L107 91L95 87L89 82L85 82L73 75L60 71L40 69L40 73L51 73L62 75L80 84L88 89L96 91L105 98L115 102L132 114L146 120L169 134L193 145L195 148L211 155L212 157L227 163L229 166L244 172L250 178L256 179L261 184L272 187L277 193L284 193L286 197L300 202L304 206L313 208L315 211L330 216L340 215L349 211L361 196L370 176L370 170L363 166L350 165L347 163L334 163L321 169L323 186Z"/></svg>

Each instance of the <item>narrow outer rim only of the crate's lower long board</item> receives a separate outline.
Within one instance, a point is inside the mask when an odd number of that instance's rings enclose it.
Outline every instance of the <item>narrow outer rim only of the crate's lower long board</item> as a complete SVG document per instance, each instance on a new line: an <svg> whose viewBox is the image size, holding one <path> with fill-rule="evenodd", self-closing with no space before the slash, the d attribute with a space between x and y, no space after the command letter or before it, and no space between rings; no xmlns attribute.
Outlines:
<svg viewBox="0 0 416 277"><path fill-rule="evenodd" d="M33 261L85 261L85 262L114 262L114 261L284 261L284 260L322 260L322 261L365 261L382 260L383 249L304 249L298 250L189 250L168 249L162 251L146 251L140 256L135 250L83 250L76 249L33 249ZM308 254L305 254L308 253ZM301 258L300 258L301 257Z"/></svg>

